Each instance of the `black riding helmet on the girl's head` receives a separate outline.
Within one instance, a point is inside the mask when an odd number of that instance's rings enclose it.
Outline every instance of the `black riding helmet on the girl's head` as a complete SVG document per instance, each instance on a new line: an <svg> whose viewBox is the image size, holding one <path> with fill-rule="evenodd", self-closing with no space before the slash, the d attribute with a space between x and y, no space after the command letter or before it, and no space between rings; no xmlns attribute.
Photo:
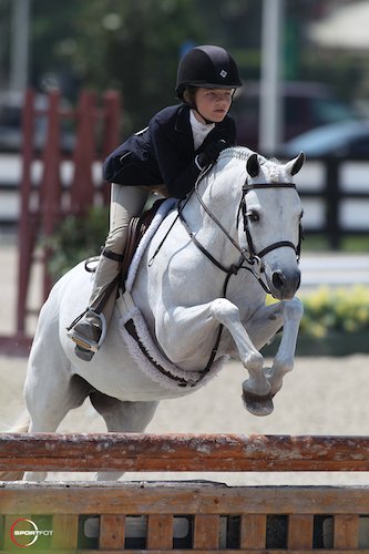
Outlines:
<svg viewBox="0 0 369 554"><path fill-rule="evenodd" d="M180 100L186 86L237 89L242 86L235 60L224 48L203 45L187 52L180 62L175 91Z"/></svg>

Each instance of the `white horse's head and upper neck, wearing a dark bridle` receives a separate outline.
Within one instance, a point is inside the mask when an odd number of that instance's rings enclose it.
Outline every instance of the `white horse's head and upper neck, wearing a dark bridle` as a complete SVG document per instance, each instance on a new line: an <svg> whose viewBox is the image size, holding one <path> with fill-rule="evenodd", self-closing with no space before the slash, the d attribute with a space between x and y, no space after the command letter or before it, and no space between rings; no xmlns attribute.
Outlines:
<svg viewBox="0 0 369 554"><path fill-rule="evenodd" d="M218 240L223 238L224 264L232 264L236 254L224 240L229 235L255 273L264 274L266 289L277 299L293 298L300 284L303 208L293 178L304 160L301 153L279 164L248 148L228 148L198 187L204 204L212 206L215 227L218 220L223 229Z"/></svg>

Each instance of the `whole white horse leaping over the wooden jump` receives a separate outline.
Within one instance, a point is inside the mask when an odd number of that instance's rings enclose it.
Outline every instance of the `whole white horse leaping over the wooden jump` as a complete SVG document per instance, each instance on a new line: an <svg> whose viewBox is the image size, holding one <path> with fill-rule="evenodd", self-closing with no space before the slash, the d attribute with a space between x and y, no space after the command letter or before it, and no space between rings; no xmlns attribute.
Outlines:
<svg viewBox="0 0 369 554"><path fill-rule="evenodd" d="M294 297L301 206L293 184L303 162L303 154L283 165L248 148L224 151L160 225L90 362L75 356L65 329L88 305L91 274L81 263L63 276L41 310L30 353L30 431L55 431L90 396L109 431L141 432L161 399L202 387L229 357L248 372L247 409L270 413L294 366L303 315ZM267 291L279 301L266 306ZM264 368L259 349L280 328L273 367Z"/></svg>

